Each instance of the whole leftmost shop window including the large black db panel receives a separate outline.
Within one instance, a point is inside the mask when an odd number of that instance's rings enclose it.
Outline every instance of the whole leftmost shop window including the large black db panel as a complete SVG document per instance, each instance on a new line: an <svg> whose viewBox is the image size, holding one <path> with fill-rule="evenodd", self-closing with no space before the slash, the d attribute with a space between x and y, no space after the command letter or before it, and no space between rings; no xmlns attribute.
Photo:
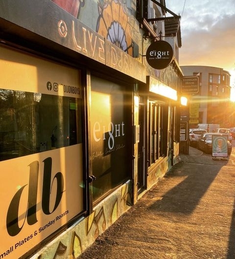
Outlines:
<svg viewBox="0 0 235 259"><path fill-rule="evenodd" d="M0 255L22 258L87 210L81 76L2 46L0 71Z"/></svg>

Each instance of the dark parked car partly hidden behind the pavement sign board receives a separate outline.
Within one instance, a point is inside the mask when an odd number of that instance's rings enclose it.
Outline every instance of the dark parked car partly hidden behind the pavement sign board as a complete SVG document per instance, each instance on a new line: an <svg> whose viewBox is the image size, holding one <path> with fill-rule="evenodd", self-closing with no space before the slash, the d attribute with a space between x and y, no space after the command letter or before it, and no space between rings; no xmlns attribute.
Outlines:
<svg viewBox="0 0 235 259"><path fill-rule="evenodd" d="M212 154L212 135L216 136L222 136L222 133L204 133L202 136L198 139L198 149L205 152L205 153L211 153ZM228 140L228 154L230 155L232 152L232 144Z"/></svg>

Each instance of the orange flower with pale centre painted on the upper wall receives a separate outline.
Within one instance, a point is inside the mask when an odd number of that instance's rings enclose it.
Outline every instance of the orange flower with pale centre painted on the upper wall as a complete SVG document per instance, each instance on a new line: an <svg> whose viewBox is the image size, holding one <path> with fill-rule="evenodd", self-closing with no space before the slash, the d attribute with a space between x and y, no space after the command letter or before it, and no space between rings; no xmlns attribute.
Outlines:
<svg viewBox="0 0 235 259"><path fill-rule="evenodd" d="M103 4L99 1L98 9L96 32L133 56L134 43L128 11L119 0L106 0Z"/></svg>

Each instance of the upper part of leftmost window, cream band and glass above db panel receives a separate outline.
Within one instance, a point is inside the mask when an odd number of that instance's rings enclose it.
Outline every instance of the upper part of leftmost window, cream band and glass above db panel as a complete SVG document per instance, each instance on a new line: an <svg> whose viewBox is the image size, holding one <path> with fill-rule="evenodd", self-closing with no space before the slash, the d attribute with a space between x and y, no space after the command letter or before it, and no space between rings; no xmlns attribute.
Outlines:
<svg viewBox="0 0 235 259"><path fill-rule="evenodd" d="M0 46L0 161L81 143L80 71Z"/></svg>

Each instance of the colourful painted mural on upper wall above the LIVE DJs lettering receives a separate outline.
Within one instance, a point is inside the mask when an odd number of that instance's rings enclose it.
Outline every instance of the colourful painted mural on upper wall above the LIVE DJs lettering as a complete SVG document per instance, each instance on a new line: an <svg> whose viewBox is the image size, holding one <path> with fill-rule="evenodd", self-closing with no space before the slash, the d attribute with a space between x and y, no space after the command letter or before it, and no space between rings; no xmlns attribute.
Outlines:
<svg viewBox="0 0 235 259"><path fill-rule="evenodd" d="M86 12L91 5L91 2L86 0L52 1L81 22L85 21L80 19L80 13L83 10ZM139 47L135 43L135 40L138 41L138 39L133 39L133 31L136 27L138 32L139 25L135 24L134 17L121 2L120 0L97 0L96 28L92 29L130 56L139 57Z"/></svg>

